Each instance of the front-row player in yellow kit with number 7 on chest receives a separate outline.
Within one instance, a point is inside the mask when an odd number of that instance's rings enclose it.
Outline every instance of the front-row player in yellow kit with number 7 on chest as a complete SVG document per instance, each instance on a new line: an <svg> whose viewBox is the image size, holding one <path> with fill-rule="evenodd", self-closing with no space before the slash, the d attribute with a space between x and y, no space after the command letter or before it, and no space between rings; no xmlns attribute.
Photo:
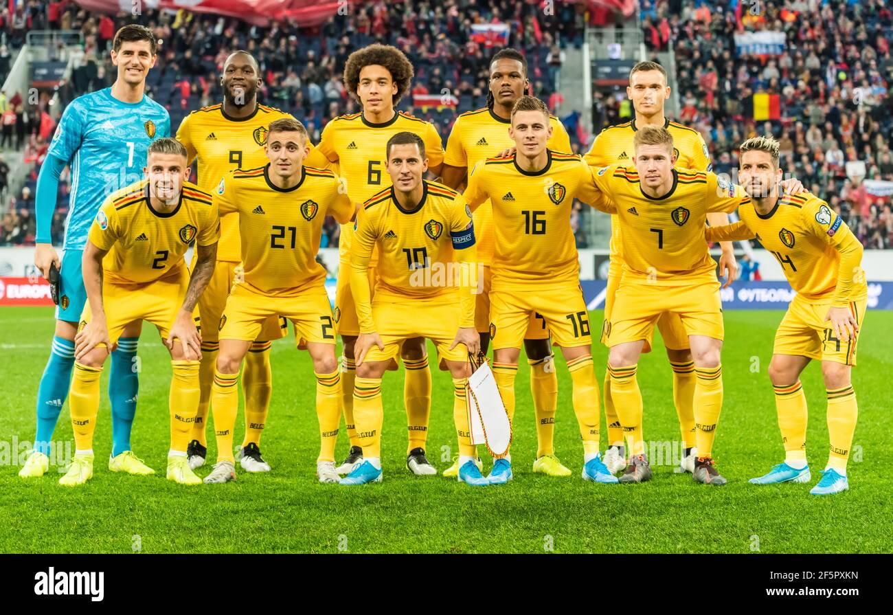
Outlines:
<svg viewBox="0 0 893 615"><path fill-rule="evenodd" d="M707 213L734 211L744 193L714 173L673 168L673 138L663 127L638 129L633 148L635 168L593 169L598 189L613 201L608 211L617 214L621 230L622 282L604 332L611 396L630 451L621 482L651 478L636 367L655 324L669 312L680 316L689 336L697 376L693 477L699 483L725 484L712 457L722 410L720 284L714 259L698 241L705 237Z"/></svg>

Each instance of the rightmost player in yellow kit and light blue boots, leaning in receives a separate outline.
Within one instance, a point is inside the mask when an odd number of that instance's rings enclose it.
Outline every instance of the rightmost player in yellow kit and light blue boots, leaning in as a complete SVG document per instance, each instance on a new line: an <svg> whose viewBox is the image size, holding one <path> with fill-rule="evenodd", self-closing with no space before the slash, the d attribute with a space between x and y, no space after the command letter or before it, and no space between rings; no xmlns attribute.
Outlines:
<svg viewBox="0 0 893 615"><path fill-rule="evenodd" d="M808 192L780 194L779 144L772 137L755 137L741 144L739 178L751 198L739 208L741 221L709 229L707 239L755 237L778 259L797 291L775 333L769 366L785 459L750 482L807 483L811 479L800 374L815 359L822 361L828 393L830 453L822 480L809 493L840 493L849 486L847 459L858 416L850 378L867 301L862 244L821 198Z"/></svg>

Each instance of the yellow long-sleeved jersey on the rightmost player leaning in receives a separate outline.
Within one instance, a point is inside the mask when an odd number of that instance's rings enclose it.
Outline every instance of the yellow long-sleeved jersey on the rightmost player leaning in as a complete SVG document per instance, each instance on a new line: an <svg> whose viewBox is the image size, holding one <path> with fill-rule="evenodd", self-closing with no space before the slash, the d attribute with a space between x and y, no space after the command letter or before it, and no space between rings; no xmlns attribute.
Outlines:
<svg viewBox="0 0 893 615"><path fill-rule="evenodd" d="M784 195L767 215L749 201L738 213L740 222L711 230L708 238L756 238L779 261L791 288L808 301L846 307L867 298L862 244L821 198L809 192Z"/></svg>

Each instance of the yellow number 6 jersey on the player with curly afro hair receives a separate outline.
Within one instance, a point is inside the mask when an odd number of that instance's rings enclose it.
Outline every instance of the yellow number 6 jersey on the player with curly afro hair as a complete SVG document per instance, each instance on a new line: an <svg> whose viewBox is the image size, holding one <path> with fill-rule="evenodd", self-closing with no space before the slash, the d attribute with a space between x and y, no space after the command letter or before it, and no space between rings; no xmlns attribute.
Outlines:
<svg viewBox="0 0 893 615"><path fill-rule="evenodd" d="M367 122L362 113L335 118L322 129L320 145L307 157L306 164L321 167L337 162L350 199L363 203L391 185L385 169L388 139L404 131L414 132L424 141L429 166L443 162L443 145L434 124L400 111L389 122L378 124ZM353 224L341 226L338 254L342 262L350 260L353 233Z"/></svg>

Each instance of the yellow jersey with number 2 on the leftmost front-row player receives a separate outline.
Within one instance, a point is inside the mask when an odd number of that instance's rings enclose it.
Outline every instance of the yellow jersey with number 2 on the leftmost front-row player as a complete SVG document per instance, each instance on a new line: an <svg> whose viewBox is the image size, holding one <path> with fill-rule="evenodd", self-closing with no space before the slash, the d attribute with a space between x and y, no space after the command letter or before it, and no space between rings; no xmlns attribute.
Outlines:
<svg viewBox="0 0 893 615"><path fill-rule="evenodd" d="M89 239L109 250L103 259L108 282L154 282L187 271L183 255L192 240L210 246L220 239L220 219L211 195L186 182L179 205L159 213L149 202L149 182L138 181L105 199Z"/></svg>

